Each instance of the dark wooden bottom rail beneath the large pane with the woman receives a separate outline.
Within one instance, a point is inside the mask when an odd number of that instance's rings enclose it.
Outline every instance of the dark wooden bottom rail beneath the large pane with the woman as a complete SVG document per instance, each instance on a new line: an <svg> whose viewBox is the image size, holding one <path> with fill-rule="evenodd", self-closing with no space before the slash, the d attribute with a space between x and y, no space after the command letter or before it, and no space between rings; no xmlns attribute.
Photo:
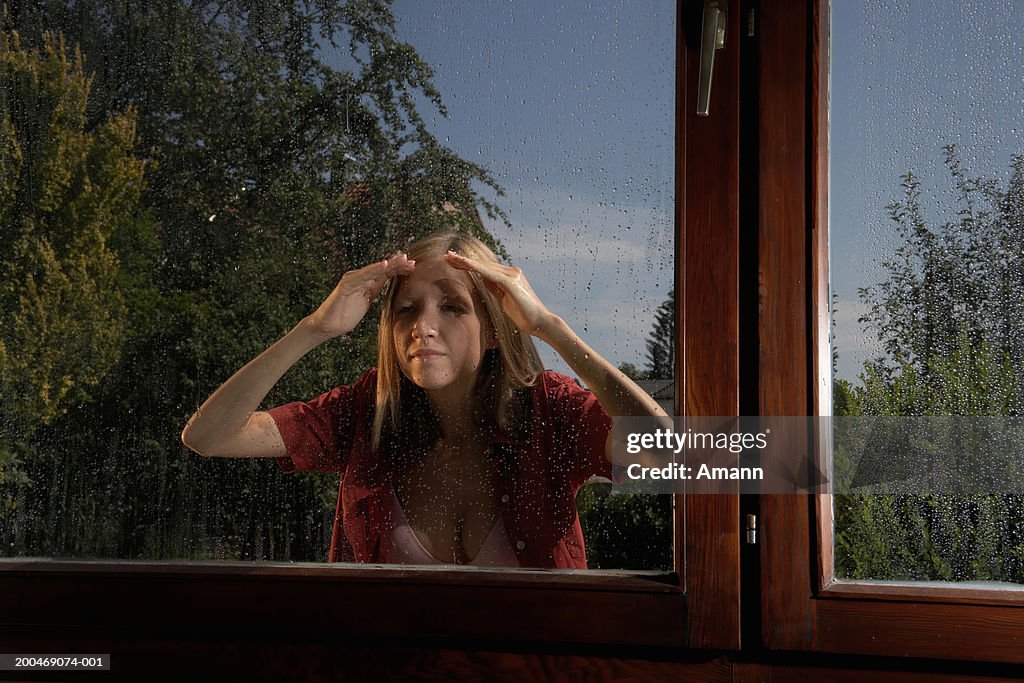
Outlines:
<svg viewBox="0 0 1024 683"><path fill-rule="evenodd" d="M0 560L0 630L687 645L676 574ZM457 616L455 616L457 615Z"/></svg>

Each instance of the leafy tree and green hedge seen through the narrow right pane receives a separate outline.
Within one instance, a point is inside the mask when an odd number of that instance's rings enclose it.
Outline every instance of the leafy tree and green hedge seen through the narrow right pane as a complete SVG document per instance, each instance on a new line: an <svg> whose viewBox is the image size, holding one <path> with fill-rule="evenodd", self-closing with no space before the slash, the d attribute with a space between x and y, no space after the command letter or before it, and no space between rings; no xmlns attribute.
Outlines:
<svg viewBox="0 0 1024 683"><path fill-rule="evenodd" d="M835 415L1020 416L1024 376L1024 157L1009 184L946 167L954 220L930 226L921 179L889 207L898 247L886 279L861 290L861 318L887 355L859 384L834 386ZM836 454L837 476L848 454ZM963 467L972 467L965 462ZM837 496L836 565L850 579L1024 583L1024 500L1017 496Z"/></svg>

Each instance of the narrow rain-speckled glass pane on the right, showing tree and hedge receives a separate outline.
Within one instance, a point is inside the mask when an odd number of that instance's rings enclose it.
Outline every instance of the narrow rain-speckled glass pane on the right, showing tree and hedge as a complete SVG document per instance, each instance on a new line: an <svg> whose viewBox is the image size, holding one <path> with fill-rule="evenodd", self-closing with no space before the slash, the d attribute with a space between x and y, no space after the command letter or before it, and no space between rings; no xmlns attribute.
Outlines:
<svg viewBox="0 0 1024 683"><path fill-rule="evenodd" d="M831 12L835 413L1020 416L1024 6ZM838 577L1024 582L1024 497L998 488L837 496Z"/></svg>

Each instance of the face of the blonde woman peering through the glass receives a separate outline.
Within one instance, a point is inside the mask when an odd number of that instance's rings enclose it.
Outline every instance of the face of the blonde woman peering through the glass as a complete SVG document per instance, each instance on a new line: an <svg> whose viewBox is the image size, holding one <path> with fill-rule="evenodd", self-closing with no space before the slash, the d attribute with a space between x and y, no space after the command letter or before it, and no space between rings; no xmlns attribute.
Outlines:
<svg viewBox="0 0 1024 683"><path fill-rule="evenodd" d="M398 366L432 397L470 397L486 346L482 304L472 281L440 257L417 261L394 299Z"/></svg>

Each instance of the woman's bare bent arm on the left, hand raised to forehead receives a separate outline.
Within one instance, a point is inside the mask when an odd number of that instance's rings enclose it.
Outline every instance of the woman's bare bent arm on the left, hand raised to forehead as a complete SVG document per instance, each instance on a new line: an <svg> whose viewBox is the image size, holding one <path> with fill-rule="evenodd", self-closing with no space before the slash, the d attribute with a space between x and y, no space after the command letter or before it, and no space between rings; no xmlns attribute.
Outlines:
<svg viewBox="0 0 1024 683"><path fill-rule="evenodd" d="M351 332L387 281L409 272L404 255L346 272L319 308L250 360L206 399L181 432L204 456L276 458L288 455L270 415L257 411L285 373L323 342Z"/></svg>

